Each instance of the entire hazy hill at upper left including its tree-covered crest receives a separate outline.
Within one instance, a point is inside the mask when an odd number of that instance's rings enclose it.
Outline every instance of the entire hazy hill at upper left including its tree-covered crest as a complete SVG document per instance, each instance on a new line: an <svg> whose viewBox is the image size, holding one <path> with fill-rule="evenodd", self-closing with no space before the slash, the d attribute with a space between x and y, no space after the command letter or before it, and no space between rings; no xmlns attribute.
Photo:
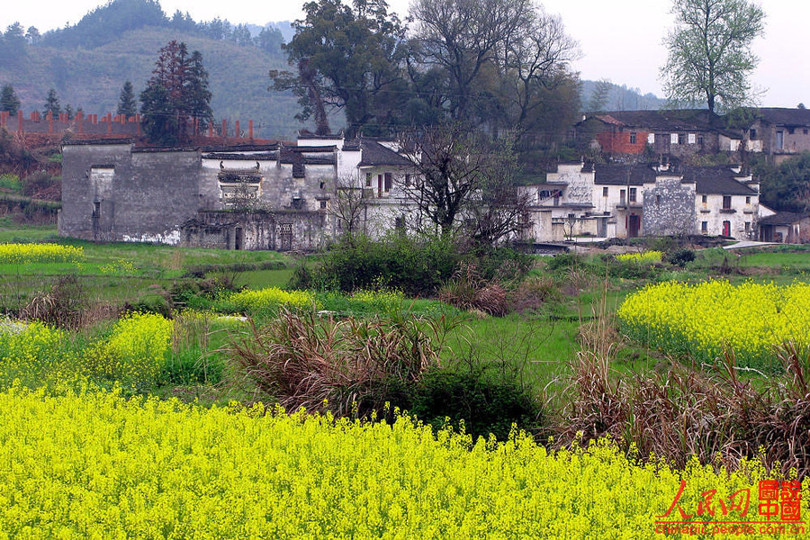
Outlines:
<svg viewBox="0 0 810 540"><path fill-rule="evenodd" d="M219 18L195 23L179 13L169 18L151 0L116 0L74 26L43 35L10 26L0 39L0 85L14 86L26 114L43 110L49 88L56 89L63 109L114 113L122 85L131 81L137 96L157 50L169 40L202 53L218 121L240 120L247 129L253 120L256 135L266 138L289 139L302 127L293 118L296 98L267 90L268 71L286 68L284 33L275 25L234 25Z"/></svg>

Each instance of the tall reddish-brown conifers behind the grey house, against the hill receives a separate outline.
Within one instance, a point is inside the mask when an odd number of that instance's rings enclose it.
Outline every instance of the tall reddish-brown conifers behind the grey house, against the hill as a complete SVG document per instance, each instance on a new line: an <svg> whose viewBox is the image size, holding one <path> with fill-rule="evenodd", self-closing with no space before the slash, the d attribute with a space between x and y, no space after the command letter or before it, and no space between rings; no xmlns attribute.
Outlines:
<svg viewBox="0 0 810 540"><path fill-rule="evenodd" d="M185 43L169 41L158 53L140 102L141 122L150 142L169 145L188 140L193 120L202 128L212 118L202 55L194 51L189 56Z"/></svg>

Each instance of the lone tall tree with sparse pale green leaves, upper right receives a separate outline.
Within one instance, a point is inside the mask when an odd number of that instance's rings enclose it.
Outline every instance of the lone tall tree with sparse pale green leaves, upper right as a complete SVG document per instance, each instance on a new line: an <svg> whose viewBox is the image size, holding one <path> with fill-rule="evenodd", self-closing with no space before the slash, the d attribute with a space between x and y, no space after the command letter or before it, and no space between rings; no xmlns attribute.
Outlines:
<svg viewBox="0 0 810 540"><path fill-rule="evenodd" d="M664 39L662 67L671 103L706 103L710 112L751 100L748 76L759 58L752 41L764 30L762 8L749 0L673 0L676 27Z"/></svg>

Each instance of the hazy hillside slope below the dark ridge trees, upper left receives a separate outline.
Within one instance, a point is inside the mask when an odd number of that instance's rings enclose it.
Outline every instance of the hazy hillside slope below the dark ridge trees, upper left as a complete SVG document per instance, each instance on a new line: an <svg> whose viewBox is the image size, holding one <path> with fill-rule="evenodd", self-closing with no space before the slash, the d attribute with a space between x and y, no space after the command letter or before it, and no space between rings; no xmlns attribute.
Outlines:
<svg viewBox="0 0 810 540"><path fill-rule="evenodd" d="M281 55L166 27L124 31L117 40L94 49L28 45L14 65L0 63L0 85L14 85L26 113L42 110L51 87L62 107L115 112L124 82L130 80L139 93L151 75L157 49L169 40L182 40L189 50L202 52L217 119L229 119L231 125L240 120L245 127L253 120L257 136L265 138L289 139L302 127L293 119L297 112L293 95L267 90L268 70L286 67Z"/></svg>

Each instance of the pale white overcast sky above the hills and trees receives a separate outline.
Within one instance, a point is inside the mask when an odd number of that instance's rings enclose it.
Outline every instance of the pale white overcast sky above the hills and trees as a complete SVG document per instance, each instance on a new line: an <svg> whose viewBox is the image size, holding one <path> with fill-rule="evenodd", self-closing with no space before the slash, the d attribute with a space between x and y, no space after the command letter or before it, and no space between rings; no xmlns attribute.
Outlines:
<svg viewBox="0 0 810 540"><path fill-rule="evenodd" d="M15 21L25 28L44 32L77 23L99 0L6 0L0 10L5 28ZM302 17L296 0L162 0L163 10L188 12L195 21L217 16L231 23L263 25L272 21ZM392 11L402 18L410 0L390 0ZM662 39L672 27L671 0L545 0L545 10L560 14L569 34L579 40L581 60L574 64L582 78L608 78L618 85L639 88L643 94L662 96L659 68L666 60ZM766 33L754 42L761 58L752 83L761 90L761 104L773 107L810 106L810 54L807 52L806 22L810 2L770 0L763 3Z"/></svg>

